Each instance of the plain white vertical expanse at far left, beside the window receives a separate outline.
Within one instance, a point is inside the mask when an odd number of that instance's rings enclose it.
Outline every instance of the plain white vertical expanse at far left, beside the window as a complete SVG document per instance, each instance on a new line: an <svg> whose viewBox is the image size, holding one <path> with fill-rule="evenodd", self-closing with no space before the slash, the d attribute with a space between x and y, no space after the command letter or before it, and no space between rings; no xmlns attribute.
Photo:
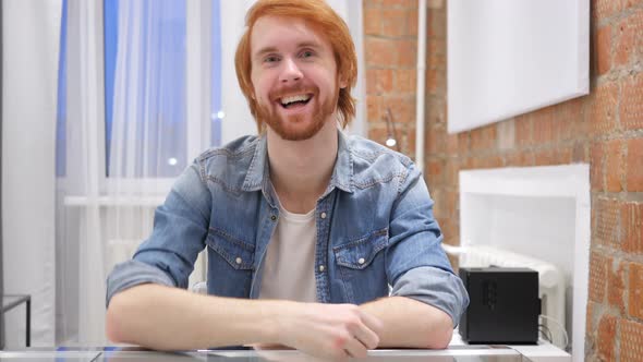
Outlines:
<svg viewBox="0 0 643 362"><path fill-rule="evenodd" d="M32 346L52 346L61 1L2 0L2 7L4 292L32 294ZM24 318L7 315L5 348L24 347Z"/></svg>

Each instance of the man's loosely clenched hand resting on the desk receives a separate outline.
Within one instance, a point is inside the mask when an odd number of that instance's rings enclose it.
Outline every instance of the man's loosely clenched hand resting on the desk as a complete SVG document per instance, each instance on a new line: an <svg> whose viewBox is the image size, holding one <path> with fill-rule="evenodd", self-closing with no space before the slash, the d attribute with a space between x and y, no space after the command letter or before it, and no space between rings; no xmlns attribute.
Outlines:
<svg viewBox="0 0 643 362"><path fill-rule="evenodd" d="M353 304L289 303L279 312L279 343L323 359L365 358L381 322Z"/></svg>

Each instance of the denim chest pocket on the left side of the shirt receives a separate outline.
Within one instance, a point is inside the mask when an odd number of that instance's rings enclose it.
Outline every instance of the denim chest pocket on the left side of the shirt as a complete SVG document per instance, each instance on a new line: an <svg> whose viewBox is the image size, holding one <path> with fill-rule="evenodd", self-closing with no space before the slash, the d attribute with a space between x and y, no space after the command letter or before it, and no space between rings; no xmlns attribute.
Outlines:
<svg viewBox="0 0 643 362"><path fill-rule="evenodd" d="M236 270L254 269L255 246L253 244L214 228L209 228L206 244L232 268Z"/></svg>

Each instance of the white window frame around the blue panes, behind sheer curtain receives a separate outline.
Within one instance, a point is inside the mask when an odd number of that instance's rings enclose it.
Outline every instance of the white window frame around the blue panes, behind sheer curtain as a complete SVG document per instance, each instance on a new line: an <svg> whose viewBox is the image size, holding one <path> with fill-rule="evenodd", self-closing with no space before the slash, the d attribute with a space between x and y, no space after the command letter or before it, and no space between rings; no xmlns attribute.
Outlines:
<svg viewBox="0 0 643 362"><path fill-rule="evenodd" d="M85 80L92 100L88 106L83 106L80 113L83 117L89 117L90 121L86 122L87 137L94 140L96 146L88 148L88 167L92 167L95 174L88 172L89 178L97 177L97 180L90 180L90 184L97 184L97 188L89 186L90 190L85 192L86 195L65 197L66 204L83 204L83 200L97 200L99 204L120 203L123 196L128 196L131 203L132 195L141 194L145 190L146 195L166 195L173 184L175 177L172 178L119 178L107 176L107 113L106 113L106 59L105 59L105 0L83 0L87 3L80 5L75 1L68 3L68 23L63 24L68 28L76 28L77 32L66 32L66 51L85 51L83 61L86 62ZM185 126L186 126L186 165L191 165L209 144L210 144L210 95L211 95L211 2L199 0L185 0L186 5L186 34L185 34ZM82 17L86 19L82 19ZM75 23L73 23L75 22ZM69 111L77 105L70 104L70 99L80 99L70 97L70 85L82 87L82 70L78 72L69 72L69 69L81 69L80 67L70 67L70 63L80 62L73 57L68 57L64 76L66 77L66 111L65 123L70 119ZM75 82L75 83L74 83ZM78 89L75 89L80 92ZM73 92L73 90L72 90ZM80 117L80 114L75 114ZM74 117L74 116L72 116ZM69 126L66 126L69 135ZM70 140L68 136L66 140ZM68 141L69 142L69 141ZM69 155L69 145L65 143L65 155ZM73 182L70 178L70 162L65 159L66 170L64 176L58 178L59 183L64 190L70 191ZM97 173L97 176L96 176ZM73 178L73 177L72 177ZM92 197L94 196L94 197ZM99 196L99 197L96 197ZM107 196L107 198L106 198ZM142 197L142 200L149 197ZM154 196L153 196L154 198Z"/></svg>

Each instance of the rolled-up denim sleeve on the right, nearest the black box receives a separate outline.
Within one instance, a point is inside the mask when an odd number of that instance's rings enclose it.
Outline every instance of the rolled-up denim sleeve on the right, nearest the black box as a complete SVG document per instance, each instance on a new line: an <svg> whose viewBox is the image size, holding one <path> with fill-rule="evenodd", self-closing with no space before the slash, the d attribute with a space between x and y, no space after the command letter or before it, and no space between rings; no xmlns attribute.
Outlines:
<svg viewBox="0 0 643 362"><path fill-rule="evenodd" d="M441 230L422 173L410 166L393 205L387 248L391 295L408 297L447 313L453 327L469 305L462 280L440 246Z"/></svg>

